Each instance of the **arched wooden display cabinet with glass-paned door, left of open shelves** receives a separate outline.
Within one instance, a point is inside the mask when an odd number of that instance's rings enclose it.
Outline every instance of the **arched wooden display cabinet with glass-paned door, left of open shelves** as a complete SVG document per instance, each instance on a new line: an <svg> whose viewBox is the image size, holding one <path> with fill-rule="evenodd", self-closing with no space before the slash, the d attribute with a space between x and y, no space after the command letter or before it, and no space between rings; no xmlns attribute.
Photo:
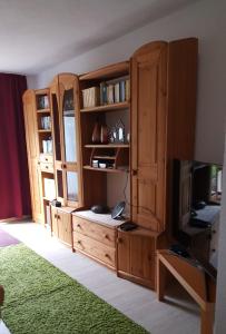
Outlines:
<svg viewBox="0 0 226 334"><path fill-rule="evenodd" d="M72 73L58 75L50 85L57 197L71 207L82 205L77 91L78 78Z"/></svg>

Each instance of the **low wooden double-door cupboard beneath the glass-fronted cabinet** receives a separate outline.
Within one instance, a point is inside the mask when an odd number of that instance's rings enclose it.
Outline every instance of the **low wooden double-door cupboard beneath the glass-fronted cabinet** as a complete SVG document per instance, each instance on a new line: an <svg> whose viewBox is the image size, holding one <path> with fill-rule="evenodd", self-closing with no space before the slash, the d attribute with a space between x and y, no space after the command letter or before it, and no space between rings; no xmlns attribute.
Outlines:
<svg viewBox="0 0 226 334"><path fill-rule="evenodd" d="M71 212L69 207L58 208L51 206L52 234L68 246L72 245Z"/></svg>

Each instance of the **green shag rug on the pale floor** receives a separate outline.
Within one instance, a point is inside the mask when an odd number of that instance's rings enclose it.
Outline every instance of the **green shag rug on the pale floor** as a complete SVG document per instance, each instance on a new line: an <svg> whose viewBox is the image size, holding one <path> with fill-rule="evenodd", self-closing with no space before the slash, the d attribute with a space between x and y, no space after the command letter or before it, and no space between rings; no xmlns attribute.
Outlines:
<svg viewBox="0 0 226 334"><path fill-rule="evenodd" d="M22 244L0 249L0 284L12 334L147 333Z"/></svg>

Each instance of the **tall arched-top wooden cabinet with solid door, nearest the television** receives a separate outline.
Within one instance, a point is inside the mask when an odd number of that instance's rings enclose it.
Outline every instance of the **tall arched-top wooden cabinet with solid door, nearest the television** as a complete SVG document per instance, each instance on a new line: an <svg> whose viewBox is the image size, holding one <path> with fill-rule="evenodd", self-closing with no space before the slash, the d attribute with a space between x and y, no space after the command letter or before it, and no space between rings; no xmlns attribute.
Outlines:
<svg viewBox="0 0 226 334"><path fill-rule="evenodd" d="M171 164L193 159L197 40L151 42L131 58L131 218L164 232L170 220Z"/></svg>

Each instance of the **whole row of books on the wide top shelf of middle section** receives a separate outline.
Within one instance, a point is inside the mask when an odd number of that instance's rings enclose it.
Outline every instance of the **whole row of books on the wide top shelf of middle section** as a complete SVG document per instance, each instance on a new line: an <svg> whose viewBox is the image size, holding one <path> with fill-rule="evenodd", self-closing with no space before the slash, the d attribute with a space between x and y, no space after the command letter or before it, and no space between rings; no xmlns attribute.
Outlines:
<svg viewBox="0 0 226 334"><path fill-rule="evenodd" d="M129 79L116 79L100 82L99 87L82 90L83 108L129 101Z"/></svg>

